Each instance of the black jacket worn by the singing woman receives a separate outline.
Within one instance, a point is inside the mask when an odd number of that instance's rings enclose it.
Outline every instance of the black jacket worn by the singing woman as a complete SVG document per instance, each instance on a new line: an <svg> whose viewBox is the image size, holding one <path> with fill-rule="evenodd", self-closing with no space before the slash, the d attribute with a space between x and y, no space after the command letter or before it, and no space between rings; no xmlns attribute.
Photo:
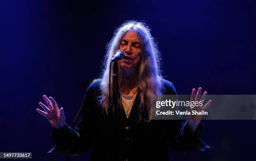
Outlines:
<svg viewBox="0 0 256 161"><path fill-rule="evenodd" d="M165 91L163 94L176 95L171 82L162 81ZM112 116L106 117L101 113L97 103L100 96L100 80L90 84L82 103L82 119L74 129L67 124L61 131L53 128L51 137L56 145L49 152L64 152L69 155L81 155L92 148L91 161L106 161L116 156L118 161L128 158L128 161L169 161L167 145L179 152L189 150L207 150L208 146L199 138L202 123L195 134L189 133L184 120L151 120L138 121L136 106L138 91L131 113L127 118L125 111L118 111L118 148L113 150L113 121ZM110 139L110 140L109 140ZM114 160L114 159L112 159Z"/></svg>

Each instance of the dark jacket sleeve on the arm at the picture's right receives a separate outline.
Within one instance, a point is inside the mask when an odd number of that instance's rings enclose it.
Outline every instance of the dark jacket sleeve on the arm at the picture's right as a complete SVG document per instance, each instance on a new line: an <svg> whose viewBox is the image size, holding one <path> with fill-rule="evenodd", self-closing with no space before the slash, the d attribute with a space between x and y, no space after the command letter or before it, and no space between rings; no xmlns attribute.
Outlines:
<svg viewBox="0 0 256 161"><path fill-rule="evenodd" d="M168 94L175 94L176 90L170 82L167 88ZM184 153L186 151L200 150L205 151L210 149L202 139L199 138L204 125L200 122L195 133L191 133L187 120L168 120L167 121L167 141L175 151Z"/></svg>

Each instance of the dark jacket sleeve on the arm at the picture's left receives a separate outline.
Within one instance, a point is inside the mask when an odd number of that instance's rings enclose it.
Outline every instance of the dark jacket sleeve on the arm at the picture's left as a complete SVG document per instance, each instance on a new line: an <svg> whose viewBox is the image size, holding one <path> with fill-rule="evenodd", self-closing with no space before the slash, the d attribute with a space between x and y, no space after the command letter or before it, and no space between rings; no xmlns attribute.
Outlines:
<svg viewBox="0 0 256 161"><path fill-rule="evenodd" d="M92 145L92 127L95 106L94 83L91 83L82 103L82 119L74 129L67 124L60 129L52 128L51 138L55 146L48 152L64 152L68 155L81 155Z"/></svg>

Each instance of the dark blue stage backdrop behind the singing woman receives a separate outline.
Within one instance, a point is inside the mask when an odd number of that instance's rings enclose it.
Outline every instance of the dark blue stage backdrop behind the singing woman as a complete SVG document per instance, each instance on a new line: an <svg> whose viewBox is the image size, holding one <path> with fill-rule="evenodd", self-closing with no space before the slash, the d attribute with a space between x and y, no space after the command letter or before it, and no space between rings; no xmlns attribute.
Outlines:
<svg viewBox="0 0 256 161"><path fill-rule="evenodd" d="M1 0L0 7L0 152L33 152L32 160L50 161L51 126L36 112L38 102L52 96L71 123L125 20L151 27L163 74L178 94L198 87L208 94L256 94L253 0ZM255 120L202 123L211 150L170 151L172 161L254 160Z"/></svg>

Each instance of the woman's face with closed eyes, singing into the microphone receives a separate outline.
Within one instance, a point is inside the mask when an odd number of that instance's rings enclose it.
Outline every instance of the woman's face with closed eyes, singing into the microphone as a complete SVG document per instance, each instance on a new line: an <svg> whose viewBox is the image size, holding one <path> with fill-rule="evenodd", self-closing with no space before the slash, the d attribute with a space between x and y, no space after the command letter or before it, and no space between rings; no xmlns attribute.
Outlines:
<svg viewBox="0 0 256 161"><path fill-rule="evenodd" d="M138 73L141 58L141 40L137 33L133 30L127 31L121 39L119 49L125 53L125 57L119 61L120 68L125 70L125 73Z"/></svg>

